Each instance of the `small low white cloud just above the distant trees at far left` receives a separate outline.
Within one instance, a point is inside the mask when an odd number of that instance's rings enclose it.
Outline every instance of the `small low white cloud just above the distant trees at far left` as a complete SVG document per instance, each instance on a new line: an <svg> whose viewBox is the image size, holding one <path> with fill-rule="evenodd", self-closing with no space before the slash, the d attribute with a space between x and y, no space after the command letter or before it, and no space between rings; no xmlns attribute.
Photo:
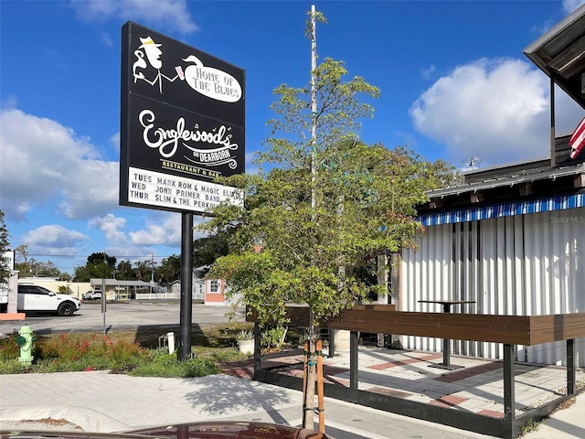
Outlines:
<svg viewBox="0 0 585 439"><path fill-rule="evenodd" d="M67 230L58 224L49 224L28 231L22 242L28 245L28 252L43 255L73 254L76 246L88 237L76 230Z"/></svg>

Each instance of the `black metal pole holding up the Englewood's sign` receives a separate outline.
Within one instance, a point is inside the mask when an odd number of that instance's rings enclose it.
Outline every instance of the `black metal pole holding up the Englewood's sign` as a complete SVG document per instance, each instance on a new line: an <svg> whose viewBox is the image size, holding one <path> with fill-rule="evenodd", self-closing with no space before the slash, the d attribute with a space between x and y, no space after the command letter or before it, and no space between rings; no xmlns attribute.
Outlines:
<svg viewBox="0 0 585 439"><path fill-rule="evenodd" d="M193 319L193 213L181 213L181 319L179 361L191 358Z"/></svg>

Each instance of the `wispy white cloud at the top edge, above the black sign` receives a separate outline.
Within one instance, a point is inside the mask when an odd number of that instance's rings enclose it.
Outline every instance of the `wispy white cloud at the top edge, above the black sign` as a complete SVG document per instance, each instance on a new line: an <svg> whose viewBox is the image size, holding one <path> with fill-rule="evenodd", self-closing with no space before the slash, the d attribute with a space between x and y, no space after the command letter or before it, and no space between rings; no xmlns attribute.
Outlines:
<svg viewBox="0 0 585 439"><path fill-rule="evenodd" d="M87 22L112 17L165 26L182 34L199 29L186 0L72 0L70 5L80 19Z"/></svg>

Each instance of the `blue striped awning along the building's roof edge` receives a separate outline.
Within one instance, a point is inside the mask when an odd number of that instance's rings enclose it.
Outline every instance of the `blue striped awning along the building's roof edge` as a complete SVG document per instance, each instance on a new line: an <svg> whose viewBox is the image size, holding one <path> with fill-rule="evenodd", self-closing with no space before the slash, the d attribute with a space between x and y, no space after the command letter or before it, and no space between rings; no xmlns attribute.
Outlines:
<svg viewBox="0 0 585 439"><path fill-rule="evenodd" d="M418 216L417 221L420 221L423 226L439 226L454 222L512 217L514 215L525 215L529 213L582 208L583 206L585 206L585 194L575 194L533 199L530 201L516 201L476 209L459 209L449 212L430 213Z"/></svg>

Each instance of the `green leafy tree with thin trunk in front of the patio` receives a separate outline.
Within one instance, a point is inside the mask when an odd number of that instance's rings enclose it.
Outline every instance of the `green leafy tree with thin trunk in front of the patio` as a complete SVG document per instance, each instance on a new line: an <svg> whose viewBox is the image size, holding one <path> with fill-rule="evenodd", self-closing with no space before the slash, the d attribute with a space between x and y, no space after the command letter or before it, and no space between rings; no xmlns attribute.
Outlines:
<svg viewBox="0 0 585 439"><path fill-rule="evenodd" d="M277 117L257 158L270 170L225 180L244 189L245 206L221 206L200 226L229 244L208 276L227 279L228 294L240 294L261 325L286 325L286 303L310 306L307 426L315 328L385 288L366 282L363 268L381 252L415 244L415 206L451 178L442 162L359 140L360 121L374 112L360 99L377 98L378 88L360 77L346 80L344 63L333 59L312 73L314 87L283 84L274 91Z"/></svg>

